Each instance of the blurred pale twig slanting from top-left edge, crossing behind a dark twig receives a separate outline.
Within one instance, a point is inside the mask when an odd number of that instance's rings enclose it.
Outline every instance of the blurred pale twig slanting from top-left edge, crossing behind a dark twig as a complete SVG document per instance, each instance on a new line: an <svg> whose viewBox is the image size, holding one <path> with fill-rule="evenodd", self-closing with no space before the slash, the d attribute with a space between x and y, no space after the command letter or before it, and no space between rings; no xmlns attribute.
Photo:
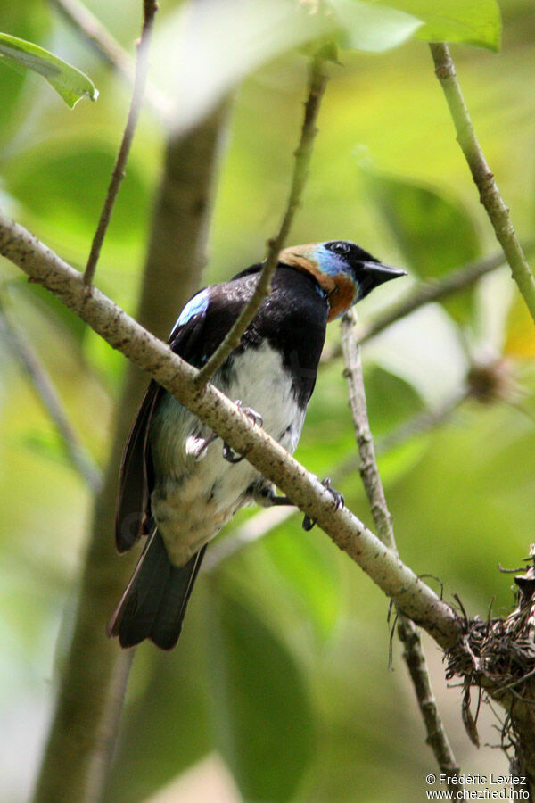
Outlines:
<svg viewBox="0 0 535 803"><path fill-rule="evenodd" d="M95 14L79 0L48 0L48 3L62 14L73 29L76 29L86 42L112 70L121 78L133 84L136 75L136 64L117 39L111 36L110 31L97 20ZM159 117L165 118L168 114L168 103L157 87L147 83L145 89L147 103Z"/></svg>

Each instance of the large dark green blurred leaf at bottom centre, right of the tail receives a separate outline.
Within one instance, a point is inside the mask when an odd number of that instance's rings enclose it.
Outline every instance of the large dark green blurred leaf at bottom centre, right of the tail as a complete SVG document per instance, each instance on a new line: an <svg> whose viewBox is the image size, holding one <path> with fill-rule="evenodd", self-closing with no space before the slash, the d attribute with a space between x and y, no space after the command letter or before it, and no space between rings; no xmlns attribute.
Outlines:
<svg viewBox="0 0 535 803"><path fill-rule="evenodd" d="M214 603L211 676L221 753L245 800L292 799L313 749L303 677L251 609L221 593Z"/></svg>

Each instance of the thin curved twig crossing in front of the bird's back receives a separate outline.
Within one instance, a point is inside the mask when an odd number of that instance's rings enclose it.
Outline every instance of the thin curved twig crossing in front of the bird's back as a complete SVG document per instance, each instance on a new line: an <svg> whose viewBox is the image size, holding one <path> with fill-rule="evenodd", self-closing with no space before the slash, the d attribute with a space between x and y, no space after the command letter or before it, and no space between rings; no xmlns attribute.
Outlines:
<svg viewBox="0 0 535 803"><path fill-rule="evenodd" d="M309 175L309 164L312 156L312 145L317 134L316 120L328 80L326 59L322 51L311 56L309 64L309 96L305 103L305 115L301 128L300 143L295 151L292 185L286 204L286 211L278 234L268 241L268 255L260 272L259 280L251 299L245 304L239 318L218 346L210 360L199 372L197 385L202 389L225 362L228 355L240 344L245 329L259 310L260 304L271 291L271 278L275 273L279 252L282 251L293 218L300 206L300 198Z"/></svg>

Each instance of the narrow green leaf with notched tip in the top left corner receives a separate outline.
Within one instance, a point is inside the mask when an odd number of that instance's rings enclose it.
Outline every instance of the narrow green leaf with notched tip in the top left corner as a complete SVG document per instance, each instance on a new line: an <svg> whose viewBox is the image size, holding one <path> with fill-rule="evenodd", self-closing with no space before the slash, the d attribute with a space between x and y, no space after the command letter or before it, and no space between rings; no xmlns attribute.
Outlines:
<svg viewBox="0 0 535 803"><path fill-rule="evenodd" d="M0 58L38 72L71 109L82 97L94 101L98 97L93 82L83 72L32 42L0 33Z"/></svg>

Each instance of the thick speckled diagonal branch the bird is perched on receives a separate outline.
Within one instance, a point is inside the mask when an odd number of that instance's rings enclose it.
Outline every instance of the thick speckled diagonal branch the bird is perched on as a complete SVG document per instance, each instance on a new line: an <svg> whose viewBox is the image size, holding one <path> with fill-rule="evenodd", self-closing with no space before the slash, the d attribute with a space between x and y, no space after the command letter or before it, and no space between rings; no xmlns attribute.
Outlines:
<svg viewBox="0 0 535 803"><path fill-rule="evenodd" d="M405 566L350 510L333 509L333 497L273 438L212 385L199 391L198 371L174 354L107 296L89 290L77 270L29 231L0 212L0 253L51 290L113 348L144 368L179 402L201 418L254 468L277 484L337 546L364 569L407 616L447 649L457 643L462 622L455 611Z"/></svg>

